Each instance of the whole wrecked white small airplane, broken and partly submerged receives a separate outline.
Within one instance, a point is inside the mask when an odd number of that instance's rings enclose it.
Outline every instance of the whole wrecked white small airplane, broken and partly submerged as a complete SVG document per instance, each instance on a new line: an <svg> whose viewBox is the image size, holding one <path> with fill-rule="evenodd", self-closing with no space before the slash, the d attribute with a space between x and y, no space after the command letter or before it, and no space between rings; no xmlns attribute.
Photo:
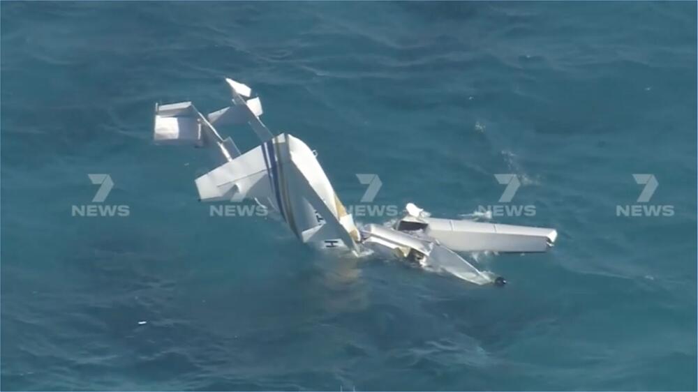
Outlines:
<svg viewBox="0 0 698 392"><path fill-rule="evenodd" d="M369 249L424 268L449 271L477 285L505 285L456 252L544 252L555 229L431 218L410 203L393 227L357 227L337 197L313 150L288 133L274 135L260 120L262 103L246 84L226 79L232 105L203 115L191 102L156 105L154 142L214 151L219 166L195 179L202 202L251 200L276 211L297 238L317 248ZM216 127L248 123L262 144L241 153Z"/></svg>

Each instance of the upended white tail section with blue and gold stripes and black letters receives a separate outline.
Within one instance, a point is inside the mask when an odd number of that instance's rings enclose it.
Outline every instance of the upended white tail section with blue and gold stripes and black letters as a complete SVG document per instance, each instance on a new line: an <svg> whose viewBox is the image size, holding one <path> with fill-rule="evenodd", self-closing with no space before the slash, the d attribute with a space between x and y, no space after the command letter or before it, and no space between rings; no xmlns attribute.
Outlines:
<svg viewBox="0 0 698 392"><path fill-rule="evenodd" d="M359 232L313 151L288 134L274 137L195 181L202 201L256 199L279 211L304 242L355 250ZM265 202L266 201L266 202Z"/></svg>

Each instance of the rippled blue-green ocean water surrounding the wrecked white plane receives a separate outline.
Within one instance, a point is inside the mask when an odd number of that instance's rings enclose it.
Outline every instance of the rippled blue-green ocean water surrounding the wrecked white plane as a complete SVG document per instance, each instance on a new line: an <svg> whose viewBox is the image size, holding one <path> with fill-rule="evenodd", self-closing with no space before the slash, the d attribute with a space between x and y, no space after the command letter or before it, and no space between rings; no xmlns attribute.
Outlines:
<svg viewBox="0 0 698 392"><path fill-rule="evenodd" d="M697 389L695 2L0 10L1 389ZM465 255L510 282L473 287L211 216L205 153L154 146L152 114L225 106L223 77L345 204L369 173L373 204L468 216L516 174L507 205L535 214L493 221L555 227L555 248ZM128 216L72 215L87 174Z"/></svg>

